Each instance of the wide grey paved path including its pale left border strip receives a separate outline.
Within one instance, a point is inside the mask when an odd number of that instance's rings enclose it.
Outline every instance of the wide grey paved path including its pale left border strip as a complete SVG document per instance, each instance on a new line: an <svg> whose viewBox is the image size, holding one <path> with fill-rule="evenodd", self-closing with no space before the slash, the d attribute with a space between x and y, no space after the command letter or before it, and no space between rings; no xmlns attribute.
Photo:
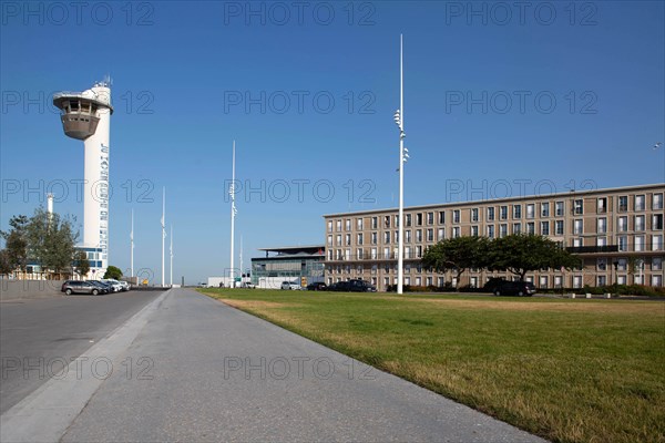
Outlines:
<svg viewBox="0 0 665 443"><path fill-rule="evenodd" d="M1 416L2 441L542 441L185 289L95 356L113 371L45 383Z"/></svg>

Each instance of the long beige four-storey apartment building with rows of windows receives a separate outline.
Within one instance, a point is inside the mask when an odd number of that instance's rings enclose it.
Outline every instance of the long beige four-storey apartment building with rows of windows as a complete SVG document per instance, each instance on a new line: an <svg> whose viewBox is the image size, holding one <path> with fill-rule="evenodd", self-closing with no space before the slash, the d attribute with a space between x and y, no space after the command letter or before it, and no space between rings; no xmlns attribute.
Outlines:
<svg viewBox="0 0 665 443"><path fill-rule="evenodd" d="M526 276L540 288L606 285L663 286L665 184L521 196L405 208L405 285L481 288L505 272L471 269L461 281L424 269L428 247L459 236L538 234L583 258L579 270L548 269ZM397 284L398 209L324 216L325 281L361 278L387 290Z"/></svg>

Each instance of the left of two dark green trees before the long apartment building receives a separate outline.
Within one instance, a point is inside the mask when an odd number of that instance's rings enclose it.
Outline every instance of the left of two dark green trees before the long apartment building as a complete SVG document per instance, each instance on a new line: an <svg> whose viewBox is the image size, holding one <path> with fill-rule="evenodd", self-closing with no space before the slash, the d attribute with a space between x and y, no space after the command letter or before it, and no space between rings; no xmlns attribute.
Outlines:
<svg viewBox="0 0 665 443"><path fill-rule="evenodd" d="M456 272L457 281L467 269L488 265L489 240L485 237L457 237L439 241L424 251L422 266L437 272Z"/></svg>

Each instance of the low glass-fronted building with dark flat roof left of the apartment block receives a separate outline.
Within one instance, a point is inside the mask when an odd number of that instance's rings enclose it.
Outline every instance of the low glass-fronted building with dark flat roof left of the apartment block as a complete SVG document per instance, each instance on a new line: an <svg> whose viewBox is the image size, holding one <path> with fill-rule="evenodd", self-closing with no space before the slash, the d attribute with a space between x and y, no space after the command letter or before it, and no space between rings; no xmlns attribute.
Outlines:
<svg viewBox="0 0 665 443"><path fill-rule="evenodd" d="M309 285L324 281L324 245L259 248L265 257L252 259L252 282L257 288L279 289L283 281Z"/></svg>

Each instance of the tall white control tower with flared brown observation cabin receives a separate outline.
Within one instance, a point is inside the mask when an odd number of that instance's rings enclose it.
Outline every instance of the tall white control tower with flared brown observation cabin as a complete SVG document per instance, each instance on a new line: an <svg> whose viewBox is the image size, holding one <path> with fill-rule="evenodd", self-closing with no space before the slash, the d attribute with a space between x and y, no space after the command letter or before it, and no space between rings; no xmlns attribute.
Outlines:
<svg viewBox="0 0 665 443"><path fill-rule="evenodd" d="M64 134L83 141L83 245L78 249L88 253L91 277L101 278L109 266L111 82L106 79L83 92L59 92L53 104L61 110Z"/></svg>

